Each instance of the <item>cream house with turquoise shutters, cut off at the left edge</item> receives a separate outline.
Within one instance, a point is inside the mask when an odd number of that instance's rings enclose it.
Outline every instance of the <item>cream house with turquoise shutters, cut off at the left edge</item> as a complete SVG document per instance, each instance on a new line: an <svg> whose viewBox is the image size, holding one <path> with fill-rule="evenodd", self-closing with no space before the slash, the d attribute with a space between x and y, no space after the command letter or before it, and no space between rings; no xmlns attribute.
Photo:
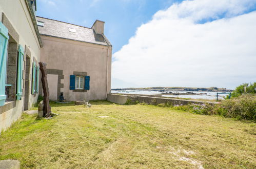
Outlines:
<svg viewBox="0 0 256 169"><path fill-rule="evenodd" d="M35 1L0 1L0 133L37 101L42 41Z"/></svg>

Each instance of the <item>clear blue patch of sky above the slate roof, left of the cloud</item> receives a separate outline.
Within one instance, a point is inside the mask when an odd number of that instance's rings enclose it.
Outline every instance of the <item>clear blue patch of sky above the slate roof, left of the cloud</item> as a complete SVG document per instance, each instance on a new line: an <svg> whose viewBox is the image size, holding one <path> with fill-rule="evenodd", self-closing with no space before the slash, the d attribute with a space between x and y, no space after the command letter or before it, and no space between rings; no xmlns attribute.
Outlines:
<svg viewBox="0 0 256 169"><path fill-rule="evenodd" d="M96 19L105 21L105 35L120 50L136 28L151 20L153 14L167 9L173 0L37 0L37 16L91 27Z"/></svg>

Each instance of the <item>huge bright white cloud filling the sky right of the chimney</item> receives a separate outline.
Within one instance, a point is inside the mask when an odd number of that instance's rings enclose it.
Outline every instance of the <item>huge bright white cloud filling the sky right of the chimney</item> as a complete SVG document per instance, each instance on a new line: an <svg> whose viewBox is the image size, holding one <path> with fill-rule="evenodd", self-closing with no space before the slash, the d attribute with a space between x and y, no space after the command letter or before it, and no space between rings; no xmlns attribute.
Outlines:
<svg viewBox="0 0 256 169"><path fill-rule="evenodd" d="M157 12L113 54L112 77L141 87L234 88L256 81L256 12L243 14L254 5L194 0ZM216 20L197 24L208 19Z"/></svg>

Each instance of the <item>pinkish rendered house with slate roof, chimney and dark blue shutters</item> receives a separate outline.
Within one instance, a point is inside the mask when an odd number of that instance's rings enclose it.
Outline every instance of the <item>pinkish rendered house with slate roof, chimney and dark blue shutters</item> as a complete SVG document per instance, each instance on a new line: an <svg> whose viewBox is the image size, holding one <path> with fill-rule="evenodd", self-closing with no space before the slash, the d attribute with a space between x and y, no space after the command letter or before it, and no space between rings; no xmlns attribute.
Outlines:
<svg viewBox="0 0 256 169"><path fill-rule="evenodd" d="M50 99L60 93L68 101L106 99L110 93L112 46L104 22L91 28L36 17L47 64ZM41 86L40 86L40 89ZM42 94L42 90L39 91Z"/></svg>

